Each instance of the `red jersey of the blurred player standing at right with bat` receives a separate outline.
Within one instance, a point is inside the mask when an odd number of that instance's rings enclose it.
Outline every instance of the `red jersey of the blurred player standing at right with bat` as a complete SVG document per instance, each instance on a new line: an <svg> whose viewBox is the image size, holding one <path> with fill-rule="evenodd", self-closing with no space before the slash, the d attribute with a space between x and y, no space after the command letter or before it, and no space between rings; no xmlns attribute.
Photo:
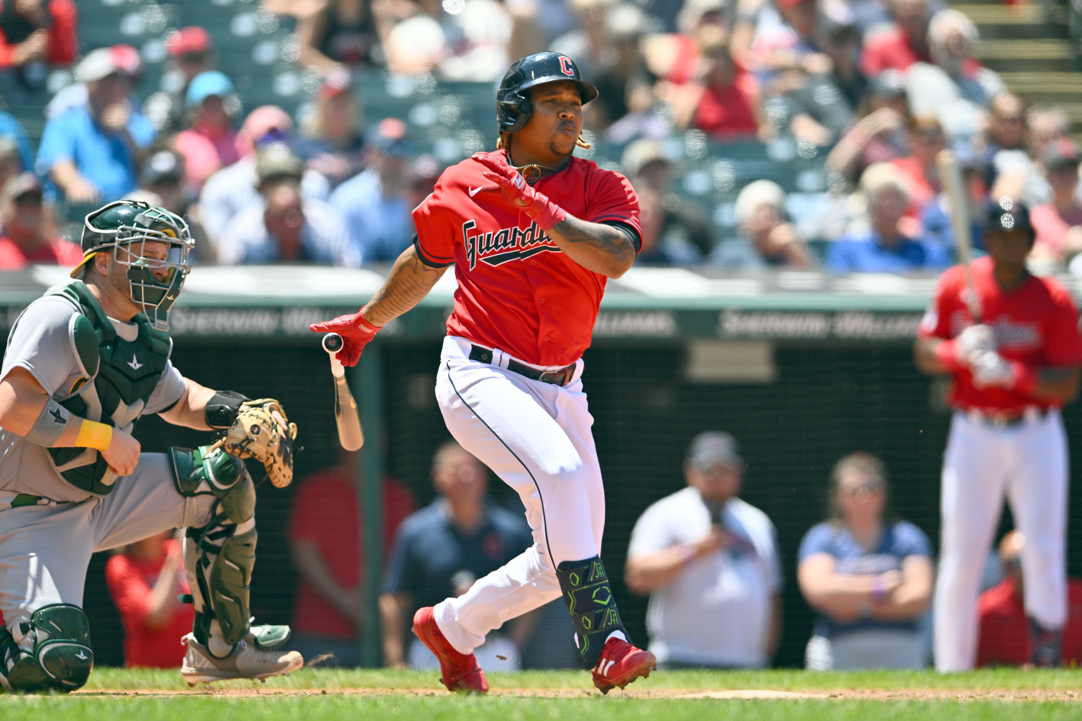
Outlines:
<svg viewBox="0 0 1082 721"><path fill-rule="evenodd" d="M1063 285L1052 278L1031 276L1020 285L1004 292L992 276L991 257L977 258L971 267L984 322L994 331L997 350L1005 360L1018 361L1031 369L1082 365L1079 313ZM973 323L967 297L962 266L954 266L939 279L935 297L918 334L924 338L958 337ZM992 411L1060 405L1015 389L976 388L973 374L966 368L954 374L951 402L963 410Z"/></svg>

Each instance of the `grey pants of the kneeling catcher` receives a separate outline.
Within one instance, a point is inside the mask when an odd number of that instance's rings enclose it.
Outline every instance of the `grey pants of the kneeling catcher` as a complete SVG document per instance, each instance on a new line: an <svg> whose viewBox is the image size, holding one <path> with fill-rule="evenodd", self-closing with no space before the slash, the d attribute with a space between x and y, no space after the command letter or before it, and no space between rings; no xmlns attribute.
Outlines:
<svg viewBox="0 0 1082 721"><path fill-rule="evenodd" d="M117 479L104 498L0 510L0 613L9 630L22 639L18 622L50 603L82 606L94 551L206 524L216 500L212 495L185 498L166 454L144 453L135 472Z"/></svg>

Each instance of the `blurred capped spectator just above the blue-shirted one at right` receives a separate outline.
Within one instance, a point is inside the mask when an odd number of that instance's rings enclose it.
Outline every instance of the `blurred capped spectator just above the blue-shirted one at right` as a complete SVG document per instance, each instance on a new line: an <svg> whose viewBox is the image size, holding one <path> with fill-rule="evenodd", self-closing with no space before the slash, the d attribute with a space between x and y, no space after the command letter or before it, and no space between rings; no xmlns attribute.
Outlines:
<svg viewBox="0 0 1082 721"><path fill-rule="evenodd" d="M873 78L857 112L860 119L827 156L827 169L853 183L869 165L910 152L905 76L884 70Z"/></svg>

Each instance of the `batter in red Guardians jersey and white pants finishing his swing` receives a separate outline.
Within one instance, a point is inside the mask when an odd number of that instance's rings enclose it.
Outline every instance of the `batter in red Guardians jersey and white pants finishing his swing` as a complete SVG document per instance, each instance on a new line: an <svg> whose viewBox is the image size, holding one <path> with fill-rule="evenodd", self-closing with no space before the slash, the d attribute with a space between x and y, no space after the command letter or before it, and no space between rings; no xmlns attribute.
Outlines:
<svg viewBox="0 0 1082 721"><path fill-rule="evenodd" d="M454 439L518 492L535 543L464 596L417 612L413 632L450 690L487 691L473 649L560 596L603 692L656 665L631 644L599 556L605 492L581 357L607 279L631 267L642 237L626 178L573 157L595 97L566 55L514 63L497 93L499 149L440 176L413 211L413 246L368 305L312 326L340 333L339 358L353 365L454 264L436 398Z"/></svg>

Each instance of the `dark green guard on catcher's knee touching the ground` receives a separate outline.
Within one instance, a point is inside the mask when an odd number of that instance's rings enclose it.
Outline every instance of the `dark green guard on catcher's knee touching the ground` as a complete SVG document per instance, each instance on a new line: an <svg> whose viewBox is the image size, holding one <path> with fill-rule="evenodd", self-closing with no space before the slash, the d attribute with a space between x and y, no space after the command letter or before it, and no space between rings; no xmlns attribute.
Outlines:
<svg viewBox="0 0 1082 721"><path fill-rule="evenodd" d="M75 691L94 667L87 614L70 603L50 603L19 623L16 641L0 627L0 684L8 691Z"/></svg>

